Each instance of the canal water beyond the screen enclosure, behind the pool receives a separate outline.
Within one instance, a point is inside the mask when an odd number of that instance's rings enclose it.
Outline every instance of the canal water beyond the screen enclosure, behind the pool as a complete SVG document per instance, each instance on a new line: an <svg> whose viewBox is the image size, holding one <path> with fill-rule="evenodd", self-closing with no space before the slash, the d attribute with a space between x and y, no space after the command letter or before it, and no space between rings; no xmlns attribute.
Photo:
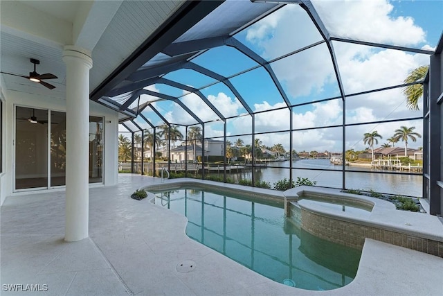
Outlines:
<svg viewBox="0 0 443 296"><path fill-rule="evenodd" d="M255 168L256 180L269 182L271 186L275 182L289 179L289 161L271 162L268 167ZM336 171L311 171L307 168L328 169ZM297 177L307 177L316 181L317 186L342 188L342 166L334 166L329 159L298 159L293 162L293 180ZM373 190L381 193L393 193L400 195L422 197L422 175L397 175L375 170L371 168L346 166L346 170L358 171L345 173L345 187L347 189ZM228 177L234 180L251 180L251 170L240 173L230 173Z"/></svg>

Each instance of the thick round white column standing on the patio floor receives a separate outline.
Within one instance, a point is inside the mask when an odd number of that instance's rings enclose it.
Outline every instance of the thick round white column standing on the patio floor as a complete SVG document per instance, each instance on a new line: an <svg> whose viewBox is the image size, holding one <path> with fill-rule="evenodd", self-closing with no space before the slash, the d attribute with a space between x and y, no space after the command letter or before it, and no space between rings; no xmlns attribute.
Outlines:
<svg viewBox="0 0 443 296"><path fill-rule="evenodd" d="M66 64L66 225L65 241L88 237L89 69L91 52L64 46Z"/></svg>

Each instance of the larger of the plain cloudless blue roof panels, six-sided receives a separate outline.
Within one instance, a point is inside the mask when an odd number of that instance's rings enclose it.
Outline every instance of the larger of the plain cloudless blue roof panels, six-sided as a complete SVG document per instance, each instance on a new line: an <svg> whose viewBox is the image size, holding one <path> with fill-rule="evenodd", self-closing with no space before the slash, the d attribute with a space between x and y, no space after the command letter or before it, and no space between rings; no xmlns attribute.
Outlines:
<svg viewBox="0 0 443 296"><path fill-rule="evenodd" d="M192 62L225 77L258 65L251 58L229 46L219 46L210 49L197 58L192 59Z"/></svg>

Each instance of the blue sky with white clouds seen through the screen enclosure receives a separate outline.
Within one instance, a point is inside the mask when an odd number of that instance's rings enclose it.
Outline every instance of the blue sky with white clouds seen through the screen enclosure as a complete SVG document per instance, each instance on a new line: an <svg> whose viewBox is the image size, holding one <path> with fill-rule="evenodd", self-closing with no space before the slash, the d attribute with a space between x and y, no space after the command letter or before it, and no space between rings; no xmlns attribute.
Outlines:
<svg viewBox="0 0 443 296"><path fill-rule="evenodd" d="M381 44L413 47L415 49L435 49L443 31L443 1L312 1L330 35L347 39L356 39ZM258 4L258 3L256 3ZM298 5L288 5L265 17L244 31L234 36L240 42L253 49L266 61L271 62L275 76L280 81L284 93L291 104L303 104L293 108L293 128L305 129L293 132L293 149L337 151L342 150L343 129L330 128L343 123L343 102L341 98L323 103L309 103L324 98L340 96L338 83L327 46L319 44L306 51L289 55L309 44L322 40L316 27L311 23L306 12ZM346 95L368 91L390 85L399 85L413 69L428 64L428 55L380 49L343 42L332 42L336 60L343 81ZM257 63L246 58L235 49L226 46L210 49L192 60L222 76L256 67ZM195 71L179 70L168 73L165 78L177 80L192 87L205 87L201 93L213 103L224 116L237 116L227 121L228 139L237 138L244 143L251 143L251 136L241 134L251 132L251 116L237 100L230 89L222 83L215 83ZM286 104L269 74L262 67L231 77L230 82L242 95L242 98L254 112L273 110L255 115L255 132L275 132L289 130L289 110L279 109ZM212 85L211 85L212 84ZM217 119L217 115L197 96L181 89L166 85L147 87L154 92L163 92L170 96L180 96L192 112L202 121ZM141 100L155 98L143 95ZM155 102L165 119L171 123L190 124L195 119L177 104L170 101ZM159 116L147 108L143 114L154 125L161 124ZM405 119L422 116L422 112L411 111L406 107L406 98L401 89L350 96L345 102L345 122L361 123L383 120ZM142 124L142 123L141 123ZM415 126L415 131L423 133L422 121L398 121L354 125L345 130L346 149L363 150L365 132L377 131L383 139L379 145L387 143L395 130L401 125ZM309 128L321 127L318 130ZM329 127L329 128L328 128ZM180 128L185 134L184 128ZM308 129L308 130L306 130ZM206 137L223 135L223 124L218 121L205 125ZM266 146L281 143L289 150L289 132L257 134ZM396 146L403 147L404 143ZM422 139L416 143L410 141L408 147L422 146Z"/></svg>

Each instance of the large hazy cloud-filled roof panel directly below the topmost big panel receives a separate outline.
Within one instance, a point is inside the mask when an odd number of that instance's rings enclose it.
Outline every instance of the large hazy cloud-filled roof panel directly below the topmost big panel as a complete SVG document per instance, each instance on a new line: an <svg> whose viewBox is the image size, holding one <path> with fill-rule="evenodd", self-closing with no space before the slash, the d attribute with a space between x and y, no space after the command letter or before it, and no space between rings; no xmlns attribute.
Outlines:
<svg viewBox="0 0 443 296"><path fill-rule="evenodd" d="M340 96L326 44L271 63L292 105Z"/></svg>

